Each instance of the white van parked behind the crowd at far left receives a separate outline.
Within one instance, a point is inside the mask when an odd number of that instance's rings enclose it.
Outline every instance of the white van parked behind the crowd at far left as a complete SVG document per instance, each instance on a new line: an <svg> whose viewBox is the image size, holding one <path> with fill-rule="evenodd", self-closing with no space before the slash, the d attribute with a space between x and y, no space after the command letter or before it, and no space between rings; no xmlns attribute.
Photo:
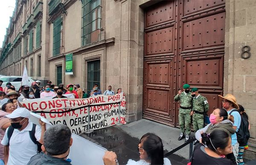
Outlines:
<svg viewBox="0 0 256 165"><path fill-rule="evenodd" d="M6 87L6 83L10 82L15 90L18 91L21 86L22 77L21 76L3 76L0 77L0 80L3 81L2 87ZM31 86L32 82L35 82L31 77L29 77L29 86Z"/></svg>

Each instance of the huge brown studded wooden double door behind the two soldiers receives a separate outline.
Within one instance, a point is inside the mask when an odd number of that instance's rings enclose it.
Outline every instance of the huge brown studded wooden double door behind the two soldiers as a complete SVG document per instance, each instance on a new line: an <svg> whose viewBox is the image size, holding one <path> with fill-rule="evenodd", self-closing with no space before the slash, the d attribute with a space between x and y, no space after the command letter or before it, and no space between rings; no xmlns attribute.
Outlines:
<svg viewBox="0 0 256 165"><path fill-rule="evenodd" d="M166 0L145 9L143 117L178 126L174 96L199 88L211 113L221 106L224 0Z"/></svg>

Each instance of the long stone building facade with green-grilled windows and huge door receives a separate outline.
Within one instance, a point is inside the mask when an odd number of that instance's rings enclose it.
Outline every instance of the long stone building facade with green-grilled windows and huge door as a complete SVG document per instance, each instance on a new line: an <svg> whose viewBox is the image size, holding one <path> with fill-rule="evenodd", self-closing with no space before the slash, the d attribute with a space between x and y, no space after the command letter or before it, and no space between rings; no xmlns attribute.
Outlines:
<svg viewBox="0 0 256 165"><path fill-rule="evenodd" d="M218 94L231 93L246 109L251 126L250 144L255 145L255 0L17 0L16 5L2 47L5 53L1 54L0 74L21 75L23 66L26 65L29 76L35 80L52 80L53 84L79 83L85 91L89 91L93 83L98 83L102 91L106 90L108 85L112 85L114 91L122 88L128 103L129 122L144 117L175 127L178 126L178 104L172 100L183 83L198 87L201 93L207 96L211 104L210 112L221 106ZM152 22L150 26L146 25L150 22L147 20L149 15L147 17L145 13L153 14L156 10L155 14L159 14L157 12L162 12L160 8L166 11L168 5L171 6L168 10L173 11L173 17L170 15L169 20L163 23ZM38 14L35 14L35 11ZM223 27L218 27L217 32L221 32L218 33L216 41L212 39L212 47L201 46L201 32L198 34L200 40L197 40L200 46L193 48L197 45L191 42L192 37L188 40L190 43L185 44L186 37L190 37L190 34L186 36L185 32L193 31L192 28L186 30L186 27L193 25L193 21L198 21L200 28L200 20L208 22L208 19L215 20L215 16L218 16L218 21L222 21ZM28 25L31 17L33 22ZM156 16L160 21L164 21L161 17ZM38 22L41 25L39 47ZM220 22L213 23L212 26L221 24ZM173 27L174 33L170 37L170 40L173 40L172 50L162 53L166 51L163 47L160 49L162 52L147 54L149 47L146 47L146 44L150 43L147 43L149 39L145 34L153 34L164 29L163 27ZM184 35L180 33L183 29ZM208 33L207 29L205 33ZM29 34L34 36L32 49L29 49ZM151 40L159 42L159 37ZM243 46L250 46L250 51L248 47L244 47L243 50L247 52L242 52ZM15 53L16 49L18 53ZM248 52L249 58L241 57L241 53L247 57ZM65 74L67 54L73 54L71 75ZM208 63L213 67L206 68L209 71L201 76L207 79L194 80L193 77L203 74L200 71L204 69L193 70L194 73L189 71L189 66ZM217 64L218 67L214 67ZM148 70L151 66L158 70ZM159 78L159 75L165 74L162 66L172 68L166 70L171 75L168 80ZM182 69L183 67L186 69ZM218 71L214 71L216 68ZM158 74L158 77L150 77L148 74ZM195 76L191 78L190 74ZM211 79L214 76L216 80ZM153 85L146 82L151 80L162 82ZM210 80L212 84L209 84ZM163 81L168 81L169 84ZM154 96L153 93L158 91L159 95ZM161 103L154 103L157 99ZM163 106L157 107L160 104Z"/></svg>

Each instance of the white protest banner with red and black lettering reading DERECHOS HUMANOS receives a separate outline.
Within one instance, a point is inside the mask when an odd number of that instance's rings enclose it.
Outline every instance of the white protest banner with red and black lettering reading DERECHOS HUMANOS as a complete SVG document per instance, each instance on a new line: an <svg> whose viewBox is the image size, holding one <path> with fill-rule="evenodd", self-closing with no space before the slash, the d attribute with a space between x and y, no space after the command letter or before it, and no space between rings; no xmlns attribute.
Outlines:
<svg viewBox="0 0 256 165"><path fill-rule="evenodd" d="M89 118L90 130L110 127L117 123L126 124L126 101L123 94L98 95L85 99L59 98L35 101L32 99L20 103L30 111L40 114L53 125L67 125L72 133L78 135L87 131ZM90 109L90 117L88 109Z"/></svg>

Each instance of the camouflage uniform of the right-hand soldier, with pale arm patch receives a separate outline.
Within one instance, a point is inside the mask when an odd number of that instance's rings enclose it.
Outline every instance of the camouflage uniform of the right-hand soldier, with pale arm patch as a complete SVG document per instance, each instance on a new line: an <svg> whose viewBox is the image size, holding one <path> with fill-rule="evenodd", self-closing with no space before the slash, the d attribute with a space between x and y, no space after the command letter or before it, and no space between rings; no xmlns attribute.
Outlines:
<svg viewBox="0 0 256 165"><path fill-rule="evenodd" d="M193 98L193 128L194 131L198 131L199 129L204 128L204 111L205 113L209 110L209 104L207 98L202 96L201 94L198 98Z"/></svg>

